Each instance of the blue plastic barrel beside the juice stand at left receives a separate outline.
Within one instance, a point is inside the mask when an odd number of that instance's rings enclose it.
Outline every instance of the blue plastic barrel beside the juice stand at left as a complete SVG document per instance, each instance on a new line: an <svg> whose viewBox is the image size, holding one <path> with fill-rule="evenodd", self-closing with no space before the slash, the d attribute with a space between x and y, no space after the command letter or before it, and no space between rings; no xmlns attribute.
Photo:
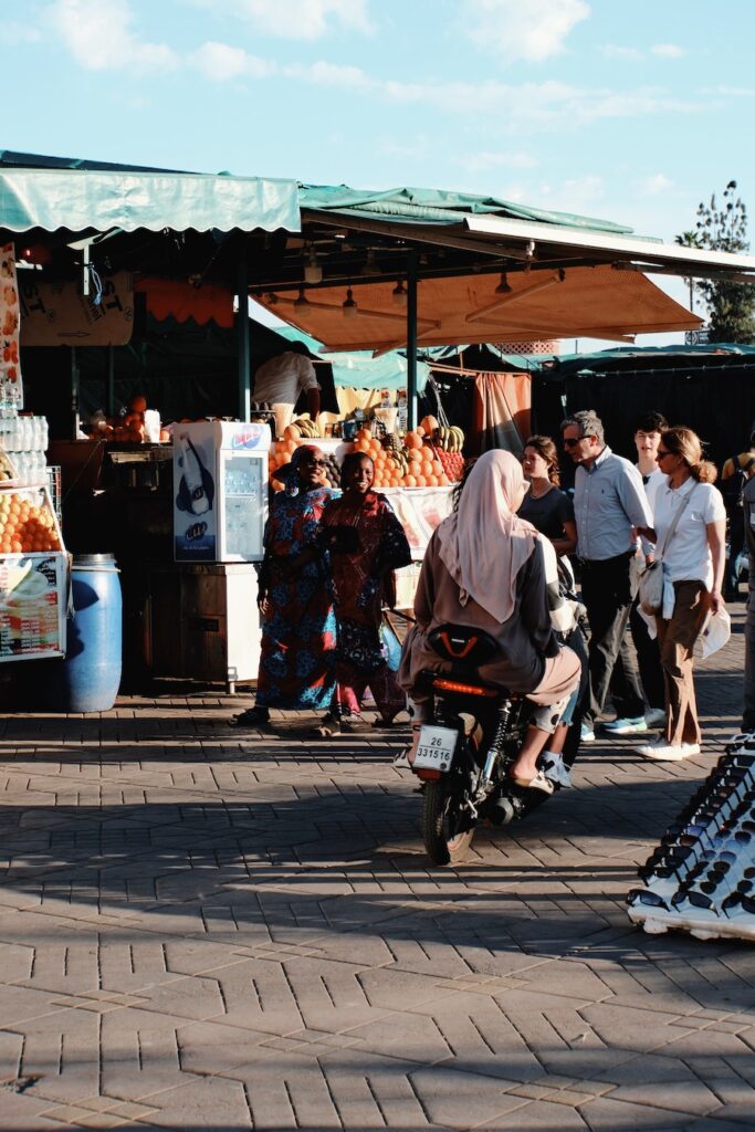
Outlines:
<svg viewBox="0 0 755 1132"><path fill-rule="evenodd" d="M113 555L74 555L66 659L45 664L48 711L109 711L121 683L121 585Z"/></svg>

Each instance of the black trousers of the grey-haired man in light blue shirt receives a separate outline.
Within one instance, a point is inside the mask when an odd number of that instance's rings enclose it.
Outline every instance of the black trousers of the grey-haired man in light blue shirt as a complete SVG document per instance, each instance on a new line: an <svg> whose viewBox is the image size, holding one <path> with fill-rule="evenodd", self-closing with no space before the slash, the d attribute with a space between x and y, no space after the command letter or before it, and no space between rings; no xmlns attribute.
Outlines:
<svg viewBox="0 0 755 1132"><path fill-rule="evenodd" d="M590 621L589 722L594 723L603 711L611 677L617 715L645 713L637 660L626 635L638 580L634 550L603 561L582 563L582 600Z"/></svg>

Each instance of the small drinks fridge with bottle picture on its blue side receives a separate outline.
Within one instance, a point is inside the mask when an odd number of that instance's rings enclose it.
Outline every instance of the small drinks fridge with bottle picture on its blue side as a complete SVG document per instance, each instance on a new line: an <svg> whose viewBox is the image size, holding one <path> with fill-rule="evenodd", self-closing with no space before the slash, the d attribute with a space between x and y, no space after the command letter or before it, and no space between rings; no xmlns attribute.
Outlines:
<svg viewBox="0 0 755 1132"><path fill-rule="evenodd" d="M263 558L267 518L267 424L200 421L173 431L177 561Z"/></svg>

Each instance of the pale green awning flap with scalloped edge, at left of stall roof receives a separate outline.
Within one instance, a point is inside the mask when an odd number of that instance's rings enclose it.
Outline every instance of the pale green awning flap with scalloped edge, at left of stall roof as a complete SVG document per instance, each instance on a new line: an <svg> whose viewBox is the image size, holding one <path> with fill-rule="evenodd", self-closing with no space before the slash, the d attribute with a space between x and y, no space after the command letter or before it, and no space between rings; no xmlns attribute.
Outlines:
<svg viewBox="0 0 755 1132"><path fill-rule="evenodd" d="M298 186L260 177L0 169L0 230L299 232Z"/></svg>

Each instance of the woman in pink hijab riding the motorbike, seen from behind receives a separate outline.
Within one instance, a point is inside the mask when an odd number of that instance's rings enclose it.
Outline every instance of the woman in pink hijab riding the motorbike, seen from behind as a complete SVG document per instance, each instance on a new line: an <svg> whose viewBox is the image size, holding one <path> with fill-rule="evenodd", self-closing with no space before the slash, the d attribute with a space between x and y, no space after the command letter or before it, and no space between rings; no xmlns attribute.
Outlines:
<svg viewBox="0 0 755 1132"><path fill-rule="evenodd" d="M566 626L551 618L552 546L516 515L526 487L520 462L508 452L487 452L474 464L457 511L430 539L414 599L417 626L404 645L398 681L414 713L411 762L419 728L431 715L420 675L451 668L428 634L448 621L484 629L498 642L498 653L480 667L480 677L538 705L512 778L549 792L538 756L580 683L580 660L559 646L554 633Z"/></svg>

